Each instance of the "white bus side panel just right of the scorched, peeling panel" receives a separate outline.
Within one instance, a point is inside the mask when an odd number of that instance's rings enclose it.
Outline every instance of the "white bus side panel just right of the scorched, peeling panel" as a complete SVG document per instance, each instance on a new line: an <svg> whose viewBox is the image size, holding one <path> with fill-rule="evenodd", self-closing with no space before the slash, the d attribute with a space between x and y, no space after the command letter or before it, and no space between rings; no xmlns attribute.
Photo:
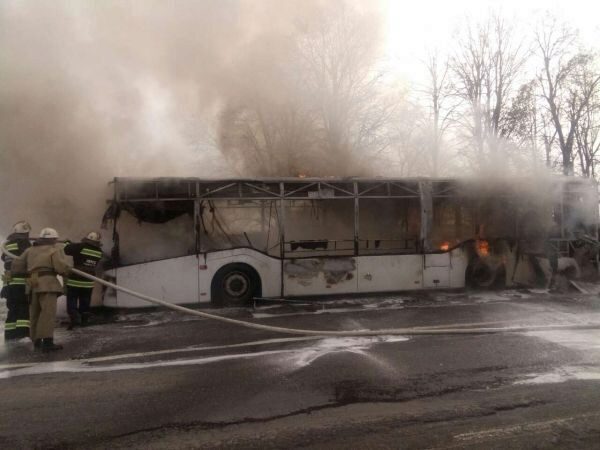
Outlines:
<svg viewBox="0 0 600 450"><path fill-rule="evenodd" d="M358 258L358 292L393 292L423 287L423 255Z"/></svg>

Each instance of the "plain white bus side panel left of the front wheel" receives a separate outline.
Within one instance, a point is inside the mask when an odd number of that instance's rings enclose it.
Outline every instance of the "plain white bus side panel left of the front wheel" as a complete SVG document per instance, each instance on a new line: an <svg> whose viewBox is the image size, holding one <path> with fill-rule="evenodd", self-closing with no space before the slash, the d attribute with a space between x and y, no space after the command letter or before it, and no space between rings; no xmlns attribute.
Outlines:
<svg viewBox="0 0 600 450"><path fill-rule="evenodd" d="M197 267L198 258L195 255L182 256L119 267L113 271L113 275L116 276L118 285L168 303L197 303ZM105 296L104 305L114 308L143 308L153 304L117 291L116 297Z"/></svg>

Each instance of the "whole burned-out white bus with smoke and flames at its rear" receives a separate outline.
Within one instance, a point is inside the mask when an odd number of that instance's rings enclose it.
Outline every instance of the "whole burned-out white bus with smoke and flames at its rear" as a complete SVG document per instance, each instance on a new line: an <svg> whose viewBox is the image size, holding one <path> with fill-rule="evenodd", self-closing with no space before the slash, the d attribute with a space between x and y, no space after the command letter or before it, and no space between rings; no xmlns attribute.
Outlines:
<svg viewBox="0 0 600 450"><path fill-rule="evenodd" d="M587 179L115 178L109 275L165 301L548 286L597 273ZM591 244L590 244L591 243ZM590 245L588 245L590 244ZM146 306L121 292L110 307Z"/></svg>

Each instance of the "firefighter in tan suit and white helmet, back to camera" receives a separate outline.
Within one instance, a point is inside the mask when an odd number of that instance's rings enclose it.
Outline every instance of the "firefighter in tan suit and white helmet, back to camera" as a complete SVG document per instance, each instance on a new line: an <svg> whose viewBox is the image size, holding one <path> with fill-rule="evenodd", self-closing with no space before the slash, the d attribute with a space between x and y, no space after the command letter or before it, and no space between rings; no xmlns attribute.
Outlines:
<svg viewBox="0 0 600 450"><path fill-rule="evenodd" d="M56 300L63 292L56 276L66 276L71 266L63 251L63 244L57 243L57 239L55 229L44 228L33 246L12 263L15 272L28 274L31 340L34 348L43 352L62 349L61 345L54 343Z"/></svg>

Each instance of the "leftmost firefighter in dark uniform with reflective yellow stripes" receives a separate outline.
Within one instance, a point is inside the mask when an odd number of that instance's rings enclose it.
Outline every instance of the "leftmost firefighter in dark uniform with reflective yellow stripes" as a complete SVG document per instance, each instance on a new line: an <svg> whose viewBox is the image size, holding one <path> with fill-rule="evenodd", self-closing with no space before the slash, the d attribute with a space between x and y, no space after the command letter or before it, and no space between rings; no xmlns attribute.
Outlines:
<svg viewBox="0 0 600 450"><path fill-rule="evenodd" d="M12 233L4 243L4 247L15 256L20 256L31 247L29 232L31 226L23 221L13 225ZM4 325L4 340L10 341L29 336L29 304L25 294L26 272L12 270L12 257L2 253L4 261L4 295L6 298L6 323Z"/></svg>

